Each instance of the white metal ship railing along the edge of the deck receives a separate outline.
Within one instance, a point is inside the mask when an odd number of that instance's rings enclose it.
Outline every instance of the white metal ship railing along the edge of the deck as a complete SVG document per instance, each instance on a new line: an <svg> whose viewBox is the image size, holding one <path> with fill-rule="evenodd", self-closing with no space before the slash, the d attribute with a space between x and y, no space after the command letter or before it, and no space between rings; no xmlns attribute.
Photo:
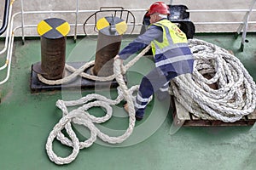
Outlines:
<svg viewBox="0 0 256 170"><path fill-rule="evenodd" d="M73 36L74 41L76 41L78 34L78 27L84 26L83 23L79 23L79 14L83 13L95 13L98 10L81 10L79 9L79 0L76 0L76 9L75 10L59 10L59 11L25 11L24 10L24 0L20 0L20 12L15 13L12 15L12 17L9 17L9 25L5 34L5 46L1 50L0 54L3 54L4 52L7 51L7 56L6 56L6 62L3 66L0 67L0 71L3 71L3 69L7 68L7 74L6 77L3 79L0 84L3 84L4 82L7 82L9 79L9 72L10 72L10 65L11 65L11 59L12 59L12 50L13 50L13 44L14 44L14 37L15 37L15 32L17 30L21 29L21 37L22 37L22 43L25 43L25 29L26 28L36 28L38 25L25 25L25 17L26 15L29 14L74 14L75 19L73 23L70 23L70 26L74 27L74 32L70 33L69 36ZM14 0L13 0L14 2ZM187 12L193 14L193 13L218 13L218 12L239 12L239 13L245 13L243 20L241 21L226 21L226 22L194 22L195 25L226 25L226 24L234 24L234 25L239 25L239 27L236 30L236 34L240 34L242 31L242 40L241 40L241 48L243 50L244 42L246 42L246 35L247 35L247 26L248 24L255 24L256 21L250 21L249 17L250 15L255 12L256 10L253 9L254 4L256 0L253 0L250 7L248 9L188 9ZM11 4L12 6L12 4ZM146 12L145 8L137 8L137 9L126 9L130 10L131 12ZM9 14L11 16L11 7L9 10ZM16 26L14 28L14 20L15 17L20 15L20 26ZM132 26L143 26L143 23L137 22L137 23L131 23L127 24L132 25ZM88 24L87 26L95 26L95 24Z"/></svg>

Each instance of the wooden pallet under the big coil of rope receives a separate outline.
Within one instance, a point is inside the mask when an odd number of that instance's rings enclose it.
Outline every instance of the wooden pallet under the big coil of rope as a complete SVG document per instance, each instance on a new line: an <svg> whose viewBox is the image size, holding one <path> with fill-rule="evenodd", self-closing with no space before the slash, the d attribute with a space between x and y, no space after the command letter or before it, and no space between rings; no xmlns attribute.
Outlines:
<svg viewBox="0 0 256 170"><path fill-rule="evenodd" d="M189 113L183 105L174 99L173 121L177 126L184 127L210 127L210 126L253 126L256 122L256 110L248 116L243 116L236 122L222 122L217 119L203 120Z"/></svg>

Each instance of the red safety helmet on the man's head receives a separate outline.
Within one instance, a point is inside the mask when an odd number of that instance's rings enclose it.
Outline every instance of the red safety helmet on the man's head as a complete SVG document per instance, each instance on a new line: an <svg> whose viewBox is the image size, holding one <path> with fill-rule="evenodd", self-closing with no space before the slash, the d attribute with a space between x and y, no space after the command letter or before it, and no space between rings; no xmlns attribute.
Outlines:
<svg viewBox="0 0 256 170"><path fill-rule="evenodd" d="M169 7L166 5L166 3L155 2L150 6L146 15L149 16L150 14L154 13L170 14Z"/></svg>

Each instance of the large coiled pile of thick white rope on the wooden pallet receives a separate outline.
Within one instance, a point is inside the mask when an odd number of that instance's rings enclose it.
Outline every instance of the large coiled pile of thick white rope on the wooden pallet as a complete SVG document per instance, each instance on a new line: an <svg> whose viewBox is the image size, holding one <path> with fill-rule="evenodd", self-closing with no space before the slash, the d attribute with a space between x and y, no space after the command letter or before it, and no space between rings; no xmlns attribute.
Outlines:
<svg viewBox="0 0 256 170"><path fill-rule="evenodd" d="M190 113L202 119L236 122L255 110L255 82L233 54L202 40L189 40L195 57L193 74L172 80L173 94ZM207 79L202 75L211 75ZM216 83L218 89L208 85Z"/></svg>

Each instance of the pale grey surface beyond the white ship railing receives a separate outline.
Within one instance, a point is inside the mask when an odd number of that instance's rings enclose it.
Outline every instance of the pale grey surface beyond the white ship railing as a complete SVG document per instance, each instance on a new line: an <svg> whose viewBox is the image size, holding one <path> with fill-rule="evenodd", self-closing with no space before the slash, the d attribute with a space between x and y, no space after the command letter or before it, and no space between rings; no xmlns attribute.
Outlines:
<svg viewBox="0 0 256 170"><path fill-rule="evenodd" d="M15 0L13 14L19 12L21 9L20 5L21 0ZM59 11L59 10L76 10L76 0L23 0L24 2L24 11ZM139 3L138 3L139 2ZM129 1L120 1L120 0L94 0L94 1L85 1L79 0L79 10L97 10L100 7L109 7L109 6L121 6L125 9L142 9L146 10L151 3L155 1L152 0L144 0L144 1L137 1L137 0L129 0ZM190 12L190 20L195 23L196 32L235 32L239 26L239 22L243 20L244 15L246 14L245 10L237 10L239 12L235 12L236 9L248 9L252 0L171 0L171 1L164 1L167 4L183 4L186 5ZM0 0L0 10L3 11L4 0ZM254 6L254 11L256 7ZM233 12L195 12L198 9L228 9L234 10ZM134 12L136 15L136 22L142 23L143 14L145 12ZM78 24L82 25L84 20L90 15L91 13L81 13L78 17ZM68 14L25 14L24 15L24 24L26 26L34 25L36 26L40 20L44 20L45 18L49 17L60 17L64 20L67 20L70 24L74 24L75 22L75 14L68 13ZM3 14L0 14L0 25L1 20L3 19ZM20 26L20 15L15 17L15 26ZM256 12L253 12L250 15L250 22L251 24L248 25L247 31L256 31L256 24L253 22L256 20ZM207 24L205 22L208 22ZM232 22L233 24L209 24L209 22ZM236 24L237 23L237 24ZM74 32L73 27L71 30L71 34ZM81 26L78 27L78 34L84 34L84 31ZM140 31L140 27L137 26L137 30L135 33ZM16 36L20 36L21 31L16 31ZM25 29L26 36L35 36L37 35L37 31L34 28L26 28Z"/></svg>

